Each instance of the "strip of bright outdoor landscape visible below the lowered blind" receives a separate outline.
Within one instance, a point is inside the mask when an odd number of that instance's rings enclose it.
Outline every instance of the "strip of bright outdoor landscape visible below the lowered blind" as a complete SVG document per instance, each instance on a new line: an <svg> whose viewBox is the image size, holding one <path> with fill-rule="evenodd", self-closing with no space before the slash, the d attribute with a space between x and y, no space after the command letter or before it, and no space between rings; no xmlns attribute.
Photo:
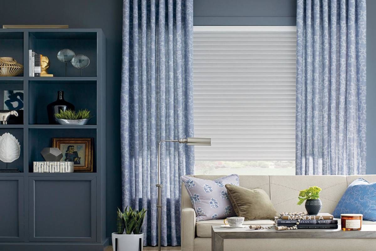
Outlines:
<svg viewBox="0 0 376 251"><path fill-rule="evenodd" d="M295 160L196 160L196 175L295 175Z"/></svg>

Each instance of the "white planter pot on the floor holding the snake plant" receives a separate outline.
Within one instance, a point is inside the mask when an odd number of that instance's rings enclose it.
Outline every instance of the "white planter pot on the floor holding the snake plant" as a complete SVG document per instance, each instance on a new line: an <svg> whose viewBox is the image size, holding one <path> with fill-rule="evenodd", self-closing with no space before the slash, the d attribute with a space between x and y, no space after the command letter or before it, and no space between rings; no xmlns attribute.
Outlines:
<svg viewBox="0 0 376 251"><path fill-rule="evenodd" d="M141 242L140 242L141 239ZM142 251L144 234L117 234L112 233L113 251Z"/></svg>

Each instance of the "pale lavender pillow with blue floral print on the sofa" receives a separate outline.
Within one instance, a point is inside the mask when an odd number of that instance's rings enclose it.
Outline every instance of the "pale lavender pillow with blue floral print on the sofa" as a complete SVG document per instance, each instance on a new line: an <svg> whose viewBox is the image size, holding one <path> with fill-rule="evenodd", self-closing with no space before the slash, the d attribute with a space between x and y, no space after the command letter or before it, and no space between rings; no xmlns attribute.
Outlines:
<svg viewBox="0 0 376 251"><path fill-rule="evenodd" d="M239 186L237 174L217 180L203 180L190 176L181 176L180 179L191 197L194 210L196 210L196 221L236 216L224 185Z"/></svg>

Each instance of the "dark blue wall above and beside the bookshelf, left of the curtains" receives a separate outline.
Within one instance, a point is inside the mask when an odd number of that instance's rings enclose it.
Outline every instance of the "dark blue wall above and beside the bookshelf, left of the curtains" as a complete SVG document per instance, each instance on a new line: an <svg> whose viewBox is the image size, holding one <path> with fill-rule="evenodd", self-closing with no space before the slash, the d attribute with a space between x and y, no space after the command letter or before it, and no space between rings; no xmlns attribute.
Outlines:
<svg viewBox="0 0 376 251"><path fill-rule="evenodd" d="M17 0L1 1L0 7L1 27L3 24L68 24L70 28L101 28L105 33L107 236L111 236L116 229L116 208L121 206L119 93L122 7L121 0Z"/></svg>

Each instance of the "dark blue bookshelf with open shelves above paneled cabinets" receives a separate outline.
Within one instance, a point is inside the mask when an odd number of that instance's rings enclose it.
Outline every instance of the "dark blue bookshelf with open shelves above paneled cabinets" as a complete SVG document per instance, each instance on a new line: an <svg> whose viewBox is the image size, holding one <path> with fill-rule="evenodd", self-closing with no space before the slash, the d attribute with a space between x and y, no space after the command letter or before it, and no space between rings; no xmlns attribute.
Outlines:
<svg viewBox="0 0 376 251"><path fill-rule="evenodd" d="M0 250L103 250L106 238L106 52L101 29L0 29L0 56L24 65L20 76L0 77L4 90L24 91L23 123L0 125L21 144L20 158L8 164L20 173L0 173ZM53 77L29 77L28 50L50 60ZM65 65L56 54L71 49L89 57L82 70ZM76 110L87 108L88 125L49 125L46 106L64 90ZM94 139L90 173L33 173L33 161L54 137ZM0 168L5 163L0 162Z"/></svg>

